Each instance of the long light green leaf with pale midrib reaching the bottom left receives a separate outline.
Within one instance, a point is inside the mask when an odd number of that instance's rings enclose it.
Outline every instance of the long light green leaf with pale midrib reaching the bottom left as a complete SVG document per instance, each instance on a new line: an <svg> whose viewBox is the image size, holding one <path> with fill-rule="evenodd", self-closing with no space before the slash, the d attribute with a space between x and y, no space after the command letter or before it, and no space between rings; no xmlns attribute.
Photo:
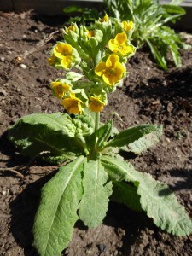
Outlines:
<svg viewBox="0 0 192 256"><path fill-rule="evenodd" d="M62 166L42 189L35 216L33 246L40 256L59 256L72 239L73 226L83 194L81 172L84 157Z"/></svg>

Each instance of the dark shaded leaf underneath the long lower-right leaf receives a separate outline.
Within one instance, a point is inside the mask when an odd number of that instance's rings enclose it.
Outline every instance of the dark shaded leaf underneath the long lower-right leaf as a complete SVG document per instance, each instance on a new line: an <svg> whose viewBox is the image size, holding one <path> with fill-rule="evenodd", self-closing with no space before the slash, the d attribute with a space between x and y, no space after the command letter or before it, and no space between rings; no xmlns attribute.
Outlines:
<svg viewBox="0 0 192 256"><path fill-rule="evenodd" d="M113 182L113 194L110 199L124 204L133 211L142 211L137 188L129 183Z"/></svg>

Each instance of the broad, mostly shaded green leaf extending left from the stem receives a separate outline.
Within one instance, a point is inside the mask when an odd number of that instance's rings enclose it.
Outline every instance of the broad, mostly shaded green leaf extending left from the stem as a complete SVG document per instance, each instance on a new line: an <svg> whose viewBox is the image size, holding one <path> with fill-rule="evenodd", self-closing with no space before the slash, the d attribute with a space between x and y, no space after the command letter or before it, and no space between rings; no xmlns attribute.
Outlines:
<svg viewBox="0 0 192 256"><path fill-rule="evenodd" d="M76 123L77 124L76 124ZM9 139L21 154L42 157L51 162L73 160L84 154L84 145L76 134L91 133L91 127L67 113L33 113L19 119L9 129Z"/></svg>

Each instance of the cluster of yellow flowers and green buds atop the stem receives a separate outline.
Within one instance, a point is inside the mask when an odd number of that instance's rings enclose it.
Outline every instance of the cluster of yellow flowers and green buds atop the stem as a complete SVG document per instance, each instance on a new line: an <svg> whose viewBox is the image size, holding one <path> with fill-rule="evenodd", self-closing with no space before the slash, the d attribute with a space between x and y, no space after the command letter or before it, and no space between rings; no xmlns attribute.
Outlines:
<svg viewBox="0 0 192 256"><path fill-rule="evenodd" d="M84 108L101 112L107 93L124 78L125 62L136 50L130 43L134 24L123 21L117 27L119 31L111 38L112 22L106 14L96 21L95 29L73 23L63 30L65 41L55 45L48 63L63 69L79 67L83 74L71 72L66 75L67 79L51 83L54 96L61 100L68 113L82 113Z"/></svg>

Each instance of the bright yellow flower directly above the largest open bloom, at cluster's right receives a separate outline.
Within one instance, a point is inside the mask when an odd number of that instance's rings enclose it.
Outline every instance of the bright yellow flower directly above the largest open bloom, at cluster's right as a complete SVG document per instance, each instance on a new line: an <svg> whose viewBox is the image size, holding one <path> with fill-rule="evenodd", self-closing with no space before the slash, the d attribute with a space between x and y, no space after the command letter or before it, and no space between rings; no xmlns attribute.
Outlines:
<svg viewBox="0 0 192 256"><path fill-rule="evenodd" d="M119 53L120 55L129 55L134 49L127 42L127 35L125 32L118 33L114 39L109 40L108 48L113 53Z"/></svg>

